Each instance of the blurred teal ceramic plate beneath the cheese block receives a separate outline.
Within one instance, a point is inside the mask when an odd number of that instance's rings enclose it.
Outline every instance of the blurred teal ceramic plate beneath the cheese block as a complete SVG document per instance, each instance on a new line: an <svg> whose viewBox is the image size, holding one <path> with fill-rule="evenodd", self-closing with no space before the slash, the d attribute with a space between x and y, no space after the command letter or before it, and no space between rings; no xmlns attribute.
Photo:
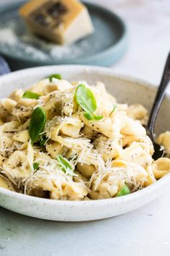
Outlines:
<svg viewBox="0 0 170 256"><path fill-rule="evenodd" d="M47 64L109 66L125 54L125 24L104 7L85 2L94 24L94 33L71 46L60 46L29 33L18 15L21 4L21 1L15 1L0 10L0 54L12 70Z"/></svg>

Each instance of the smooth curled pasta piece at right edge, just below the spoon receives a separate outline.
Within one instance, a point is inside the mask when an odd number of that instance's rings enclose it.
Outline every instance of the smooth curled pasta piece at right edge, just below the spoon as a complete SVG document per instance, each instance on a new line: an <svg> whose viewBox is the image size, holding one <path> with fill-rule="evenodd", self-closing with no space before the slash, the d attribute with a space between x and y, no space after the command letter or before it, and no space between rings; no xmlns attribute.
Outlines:
<svg viewBox="0 0 170 256"><path fill-rule="evenodd" d="M152 169L156 179L160 179L161 177L170 172L170 159L158 158L158 160L153 162Z"/></svg>

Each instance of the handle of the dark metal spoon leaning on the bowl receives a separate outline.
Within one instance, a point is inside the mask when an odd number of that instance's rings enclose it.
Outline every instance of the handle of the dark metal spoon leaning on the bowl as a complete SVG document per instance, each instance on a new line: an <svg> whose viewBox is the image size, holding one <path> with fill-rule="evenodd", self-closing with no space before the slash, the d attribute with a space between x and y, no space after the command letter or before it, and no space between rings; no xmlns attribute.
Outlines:
<svg viewBox="0 0 170 256"><path fill-rule="evenodd" d="M169 84L170 80L170 52L169 56L166 59L166 64L164 67L164 72L161 78L161 83L158 87L158 91L156 93L156 98L153 103L153 107L151 109L151 114L148 120L148 130L153 134L153 128L155 126L156 116L158 115L159 108L161 106L162 101L164 100L166 87Z"/></svg>

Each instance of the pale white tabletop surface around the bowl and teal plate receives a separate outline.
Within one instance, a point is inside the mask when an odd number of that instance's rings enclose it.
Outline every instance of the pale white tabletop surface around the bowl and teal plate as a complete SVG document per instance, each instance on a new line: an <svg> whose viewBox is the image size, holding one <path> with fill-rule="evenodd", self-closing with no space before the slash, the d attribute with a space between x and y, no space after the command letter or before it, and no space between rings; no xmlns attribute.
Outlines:
<svg viewBox="0 0 170 256"><path fill-rule="evenodd" d="M112 8L128 24L128 53L114 71L158 84L170 48L170 1L93 1ZM89 223L41 221L0 208L0 255L169 256L169 195L170 186L143 208Z"/></svg>

